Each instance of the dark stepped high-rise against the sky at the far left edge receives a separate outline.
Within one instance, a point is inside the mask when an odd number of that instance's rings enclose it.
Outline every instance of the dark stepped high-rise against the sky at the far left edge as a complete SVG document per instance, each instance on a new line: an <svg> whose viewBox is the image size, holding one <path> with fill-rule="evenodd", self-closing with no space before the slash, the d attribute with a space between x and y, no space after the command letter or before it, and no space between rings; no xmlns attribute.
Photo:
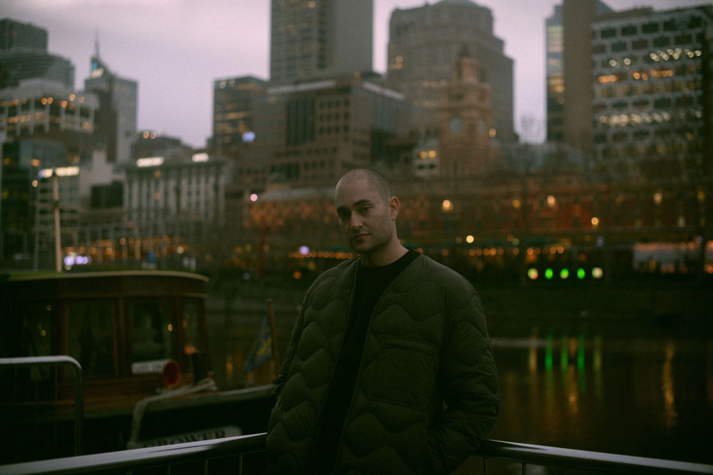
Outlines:
<svg viewBox="0 0 713 475"><path fill-rule="evenodd" d="M47 53L47 31L3 18L0 20L0 89L21 80L45 78L74 87L74 65Z"/></svg>

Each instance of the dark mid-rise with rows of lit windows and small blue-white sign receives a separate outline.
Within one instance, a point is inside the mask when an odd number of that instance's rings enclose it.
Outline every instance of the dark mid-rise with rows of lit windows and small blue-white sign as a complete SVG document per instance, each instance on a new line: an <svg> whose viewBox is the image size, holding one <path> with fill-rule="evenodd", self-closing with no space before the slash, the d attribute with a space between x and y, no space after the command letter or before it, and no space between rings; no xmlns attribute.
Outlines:
<svg viewBox="0 0 713 475"><path fill-rule="evenodd" d="M253 108L265 96L267 82L252 76L217 79L213 82L212 147L235 156L255 139Z"/></svg>

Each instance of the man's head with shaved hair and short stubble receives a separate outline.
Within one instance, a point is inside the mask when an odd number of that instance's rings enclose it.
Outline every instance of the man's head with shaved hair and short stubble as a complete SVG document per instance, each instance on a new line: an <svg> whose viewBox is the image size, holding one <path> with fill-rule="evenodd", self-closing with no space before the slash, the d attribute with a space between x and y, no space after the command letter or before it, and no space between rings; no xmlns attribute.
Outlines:
<svg viewBox="0 0 713 475"><path fill-rule="evenodd" d="M383 175L371 169L355 169L342 176L334 191L339 226L359 254L389 245L396 237L399 200L391 196Z"/></svg>

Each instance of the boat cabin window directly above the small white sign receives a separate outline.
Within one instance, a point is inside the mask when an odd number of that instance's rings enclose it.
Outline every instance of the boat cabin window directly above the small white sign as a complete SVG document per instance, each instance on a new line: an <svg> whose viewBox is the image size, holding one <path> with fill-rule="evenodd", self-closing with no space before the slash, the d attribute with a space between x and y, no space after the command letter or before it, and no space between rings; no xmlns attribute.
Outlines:
<svg viewBox="0 0 713 475"><path fill-rule="evenodd" d="M131 359L159 361L171 358L173 307L165 300L135 301L129 306L131 321ZM158 365L155 365L158 368ZM143 368L143 366L140 366ZM153 368L153 365L146 365ZM158 370L136 370L133 373L160 373Z"/></svg>

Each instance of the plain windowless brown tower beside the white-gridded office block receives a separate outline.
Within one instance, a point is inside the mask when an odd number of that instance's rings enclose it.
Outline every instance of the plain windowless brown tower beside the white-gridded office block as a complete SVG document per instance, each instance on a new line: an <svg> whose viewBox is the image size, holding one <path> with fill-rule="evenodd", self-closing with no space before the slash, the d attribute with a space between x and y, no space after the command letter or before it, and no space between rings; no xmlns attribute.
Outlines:
<svg viewBox="0 0 713 475"><path fill-rule="evenodd" d="M565 144L586 152L592 149L591 25L598 16L610 13L612 9L600 0L564 0L562 5L564 92L558 98L563 120L560 132ZM559 107L555 109L560 112Z"/></svg>

